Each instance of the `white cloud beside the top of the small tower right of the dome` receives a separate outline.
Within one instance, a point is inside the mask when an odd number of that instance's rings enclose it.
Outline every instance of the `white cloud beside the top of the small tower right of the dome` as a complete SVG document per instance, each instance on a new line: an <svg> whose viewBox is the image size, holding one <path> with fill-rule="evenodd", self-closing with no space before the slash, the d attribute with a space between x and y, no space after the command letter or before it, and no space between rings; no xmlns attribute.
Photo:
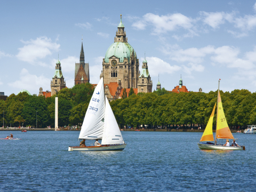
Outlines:
<svg viewBox="0 0 256 192"><path fill-rule="evenodd" d="M141 61L144 60L144 58L140 59ZM151 77L156 77L158 74L172 74L181 69L181 67L177 65L171 66L170 63L167 63L157 57L146 57L146 60L148 62L148 70Z"/></svg>

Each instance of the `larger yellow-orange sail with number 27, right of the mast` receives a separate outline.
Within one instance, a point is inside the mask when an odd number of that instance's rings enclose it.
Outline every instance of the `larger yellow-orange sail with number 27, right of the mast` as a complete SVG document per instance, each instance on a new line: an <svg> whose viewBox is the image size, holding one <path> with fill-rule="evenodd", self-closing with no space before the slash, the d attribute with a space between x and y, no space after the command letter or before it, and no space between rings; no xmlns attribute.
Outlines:
<svg viewBox="0 0 256 192"><path fill-rule="evenodd" d="M225 117L222 102L220 98L220 92L218 95L218 109L217 109L217 131L216 135L218 139L234 139L227 123L227 119Z"/></svg>

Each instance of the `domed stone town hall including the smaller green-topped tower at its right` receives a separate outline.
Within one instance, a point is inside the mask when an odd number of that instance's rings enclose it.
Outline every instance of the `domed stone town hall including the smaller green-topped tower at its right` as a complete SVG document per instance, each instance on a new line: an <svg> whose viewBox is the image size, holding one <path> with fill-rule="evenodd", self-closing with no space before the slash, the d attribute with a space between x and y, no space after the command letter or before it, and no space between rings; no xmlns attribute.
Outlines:
<svg viewBox="0 0 256 192"><path fill-rule="evenodd" d="M135 93L152 92L153 83L146 58L142 62L141 73L139 66L137 54L128 43L121 15L114 43L109 46L103 58L100 74L100 78L104 78L105 94L109 101L121 98L123 89L129 92L133 88Z"/></svg>

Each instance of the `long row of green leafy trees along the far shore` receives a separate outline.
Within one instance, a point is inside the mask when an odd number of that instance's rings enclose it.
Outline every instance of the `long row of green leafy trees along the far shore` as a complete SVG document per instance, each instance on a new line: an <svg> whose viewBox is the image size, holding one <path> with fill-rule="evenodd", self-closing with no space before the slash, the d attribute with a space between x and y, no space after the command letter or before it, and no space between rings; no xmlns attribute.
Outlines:
<svg viewBox="0 0 256 192"><path fill-rule="evenodd" d="M131 89L132 90L132 89ZM94 88L90 83L78 84L71 89L59 91L59 126L80 125L92 97ZM110 102L117 123L123 127L206 125L211 115L217 91L209 93L173 93L164 88L153 93L133 94L130 91L122 99ZM256 93L248 90L222 92L221 100L229 126L256 124ZM124 95L124 94L123 94ZM0 100L0 113L5 126L54 126L55 95L28 95L26 92L11 94L6 101ZM216 124L216 111L213 124ZM3 126L3 121L0 121Z"/></svg>

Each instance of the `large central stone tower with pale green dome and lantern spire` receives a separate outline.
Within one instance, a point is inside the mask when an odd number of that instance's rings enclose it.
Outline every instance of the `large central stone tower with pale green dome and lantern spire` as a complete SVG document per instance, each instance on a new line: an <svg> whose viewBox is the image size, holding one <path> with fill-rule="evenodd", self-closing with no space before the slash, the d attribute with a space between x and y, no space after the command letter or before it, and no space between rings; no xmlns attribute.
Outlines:
<svg viewBox="0 0 256 192"><path fill-rule="evenodd" d="M117 83L121 80L123 88L137 88L139 77L139 59L133 47L127 42L124 25L121 21L117 26L114 43L111 44L102 61L104 83Z"/></svg>

